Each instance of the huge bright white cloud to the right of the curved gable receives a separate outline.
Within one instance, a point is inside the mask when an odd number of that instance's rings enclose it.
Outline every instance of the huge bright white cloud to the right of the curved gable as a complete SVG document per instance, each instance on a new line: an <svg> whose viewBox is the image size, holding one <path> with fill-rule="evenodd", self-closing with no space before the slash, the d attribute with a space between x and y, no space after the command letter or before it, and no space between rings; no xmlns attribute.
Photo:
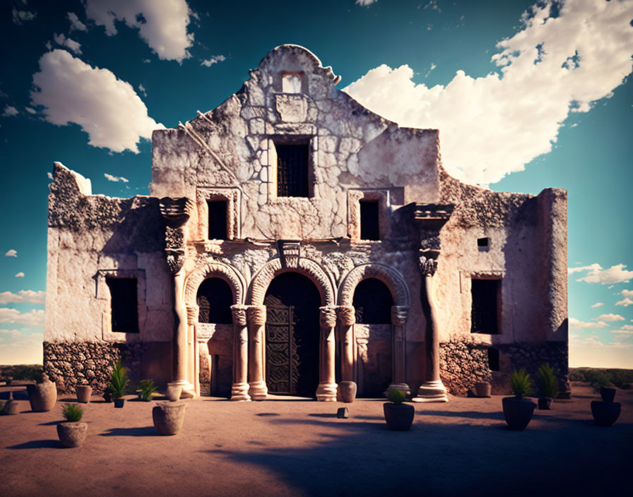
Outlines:
<svg viewBox="0 0 633 497"><path fill-rule="evenodd" d="M448 85L427 88L410 66L382 65L345 91L402 126L439 128L450 174L495 183L550 152L572 109L587 112L632 71L633 2L567 0L557 18L548 18L551 1L539 5L497 44L491 61L501 74L457 71Z"/></svg>

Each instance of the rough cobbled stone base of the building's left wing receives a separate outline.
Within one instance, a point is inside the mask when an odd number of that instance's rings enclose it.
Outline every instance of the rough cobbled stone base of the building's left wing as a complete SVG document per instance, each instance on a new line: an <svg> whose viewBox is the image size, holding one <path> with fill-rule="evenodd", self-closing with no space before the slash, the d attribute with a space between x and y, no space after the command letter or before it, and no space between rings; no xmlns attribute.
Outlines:
<svg viewBox="0 0 633 497"><path fill-rule="evenodd" d="M122 359L131 381L141 371L142 344L112 342L44 342L44 370L61 393L74 393L76 385L91 385L103 393L112 364Z"/></svg>

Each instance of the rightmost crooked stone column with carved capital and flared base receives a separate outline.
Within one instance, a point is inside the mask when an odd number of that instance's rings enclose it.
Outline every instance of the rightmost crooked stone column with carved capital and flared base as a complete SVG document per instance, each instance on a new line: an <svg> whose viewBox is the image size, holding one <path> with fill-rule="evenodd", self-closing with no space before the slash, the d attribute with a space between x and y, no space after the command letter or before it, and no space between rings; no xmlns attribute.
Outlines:
<svg viewBox="0 0 633 497"><path fill-rule="evenodd" d="M446 387L439 378L439 330L433 275L437 270L437 252L420 255L422 273L422 311L425 313L425 382L418 388L414 402L448 402Z"/></svg>

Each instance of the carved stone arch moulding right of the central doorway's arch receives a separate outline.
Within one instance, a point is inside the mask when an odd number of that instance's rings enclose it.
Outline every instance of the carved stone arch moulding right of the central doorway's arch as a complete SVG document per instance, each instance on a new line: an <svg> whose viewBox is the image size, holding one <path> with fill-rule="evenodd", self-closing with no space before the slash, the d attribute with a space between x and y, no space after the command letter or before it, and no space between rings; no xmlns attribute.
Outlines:
<svg viewBox="0 0 633 497"><path fill-rule="evenodd" d="M367 278L376 278L389 288L394 306L410 305L409 289L402 275L388 265L379 263L357 265L345 276L338 289L338 305L351 306L356 285Z"/></svg>

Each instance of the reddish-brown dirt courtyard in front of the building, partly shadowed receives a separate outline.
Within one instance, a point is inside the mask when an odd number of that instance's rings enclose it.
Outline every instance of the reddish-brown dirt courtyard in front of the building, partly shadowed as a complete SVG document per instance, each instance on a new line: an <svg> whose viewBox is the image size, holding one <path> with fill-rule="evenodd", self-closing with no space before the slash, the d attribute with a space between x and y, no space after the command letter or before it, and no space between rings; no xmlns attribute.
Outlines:
<svg viewBox="0 0 633 497"><path fill-rule="evenodd" d="M622 414L604 428L591 418L599 395L573 386L521 432L496 395L415 404L408 432L386 428L379 400L337 419L339 402L203 397L185 401L176 436L155 433L153 402L114 409L94 396L74 449L54 426L73 396L40 413L20 400L20 414L0 417L0 496L632 495L633 390L617 390Z"/></svg>

